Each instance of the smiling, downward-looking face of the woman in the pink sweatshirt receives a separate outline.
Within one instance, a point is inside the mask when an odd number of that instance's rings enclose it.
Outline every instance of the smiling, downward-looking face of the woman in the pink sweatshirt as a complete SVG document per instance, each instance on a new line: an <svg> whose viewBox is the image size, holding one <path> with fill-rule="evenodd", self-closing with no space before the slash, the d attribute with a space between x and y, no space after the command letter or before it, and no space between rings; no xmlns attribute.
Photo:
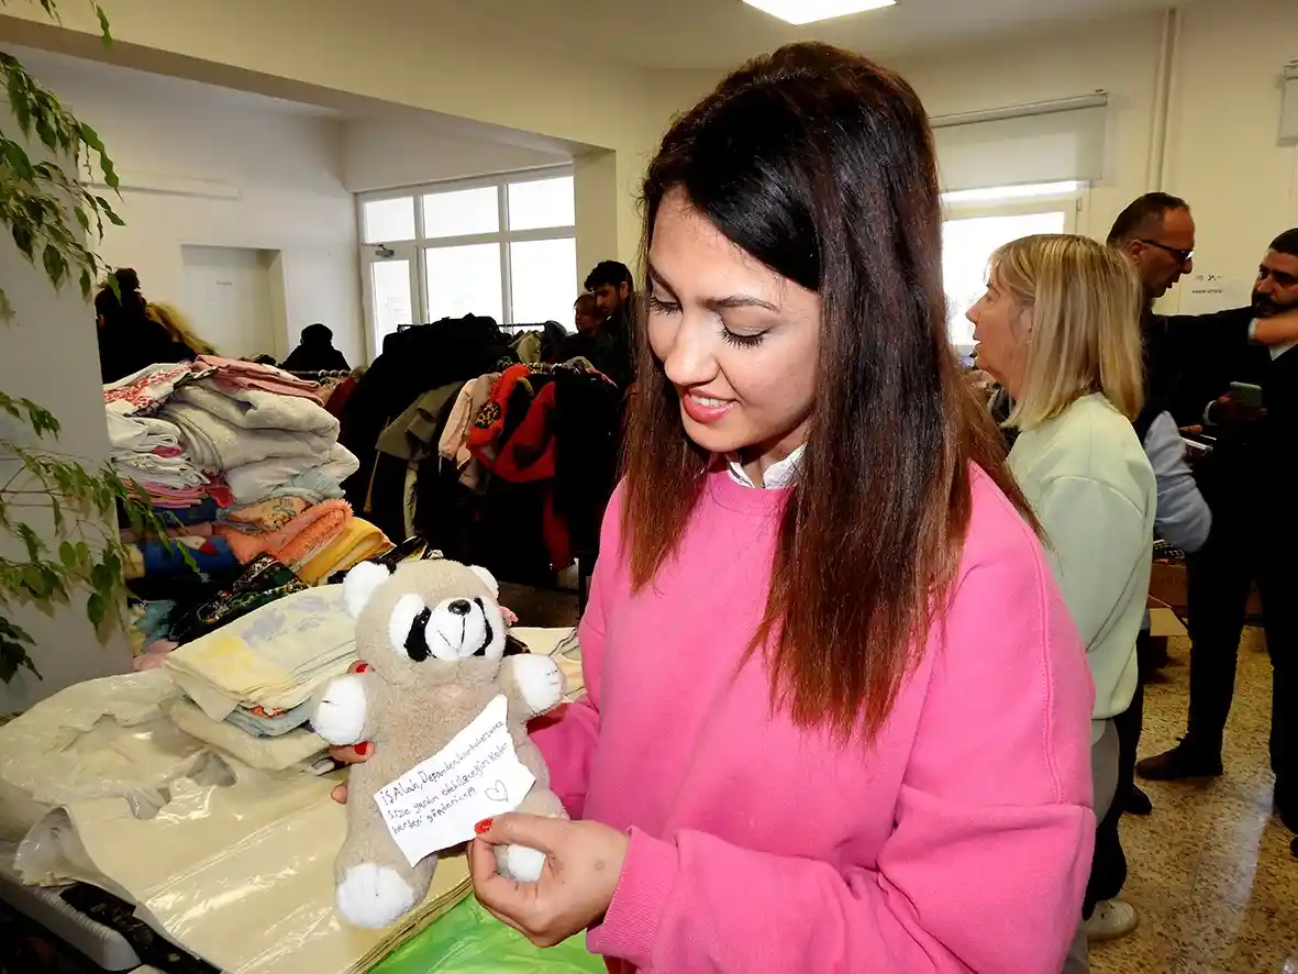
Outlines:
<svg viewBox="0 0 1298 974"><path fill-rule="evenodd" d="M649 248L649 344L688 436L713 453L780 460L806 438L820 299L663 197Z"/></svg>

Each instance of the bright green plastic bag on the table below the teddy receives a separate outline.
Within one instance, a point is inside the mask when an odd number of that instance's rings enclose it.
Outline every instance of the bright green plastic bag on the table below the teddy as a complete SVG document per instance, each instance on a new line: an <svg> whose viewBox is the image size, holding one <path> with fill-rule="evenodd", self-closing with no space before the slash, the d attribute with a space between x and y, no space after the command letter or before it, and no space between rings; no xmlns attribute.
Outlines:
<svg viewBox="0 0 1298 974"><path fill-rule="evenodd" d="M604 974L585 935L543 951L472 896L370 968L370 974Z"/></svg>

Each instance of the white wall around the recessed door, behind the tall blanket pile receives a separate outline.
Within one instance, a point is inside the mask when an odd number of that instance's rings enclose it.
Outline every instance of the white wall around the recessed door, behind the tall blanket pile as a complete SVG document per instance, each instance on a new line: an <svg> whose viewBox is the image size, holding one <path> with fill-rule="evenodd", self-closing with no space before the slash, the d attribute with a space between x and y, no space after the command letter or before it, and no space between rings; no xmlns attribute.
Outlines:
<svg viewBox="0 0 1298 974"><path fill-rule="evenodd" d="M32 74L92 125L122 177L126 226L100 248L140 273L144 293L184 306L187 244L280 252L284 355L314 321L363 358L356 208L343 184L335 118L192 82L60 56L17 52ZM221 349L221 334L196 319Z"/></svg>

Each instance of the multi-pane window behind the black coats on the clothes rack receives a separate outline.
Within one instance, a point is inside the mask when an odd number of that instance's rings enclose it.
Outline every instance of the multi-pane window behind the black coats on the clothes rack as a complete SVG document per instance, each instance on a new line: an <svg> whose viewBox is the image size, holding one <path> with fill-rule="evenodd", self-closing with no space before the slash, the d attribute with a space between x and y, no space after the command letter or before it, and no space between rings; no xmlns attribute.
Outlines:
<svg viewBox="0 0 1298 974"><path fill-rule="evenodd" d="M578 295L571 173L366 194L360 210L375 351L400 325L448 316L571 327Z"/></svg>

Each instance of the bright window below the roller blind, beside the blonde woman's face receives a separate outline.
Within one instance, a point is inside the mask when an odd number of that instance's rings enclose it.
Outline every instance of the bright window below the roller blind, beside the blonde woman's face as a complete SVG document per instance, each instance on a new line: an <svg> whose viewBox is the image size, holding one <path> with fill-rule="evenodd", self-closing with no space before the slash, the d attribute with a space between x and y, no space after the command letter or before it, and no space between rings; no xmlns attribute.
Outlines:
<svg viewBox="0 0 1298 974"><path fill-rule="evenodd" d="M962 356L974 351L974 326L964 313L986 290L996 249L1032 234L1072 232L1085 183L1006 187L946 194L942 221L942 282L946 331Z"/></svg>

